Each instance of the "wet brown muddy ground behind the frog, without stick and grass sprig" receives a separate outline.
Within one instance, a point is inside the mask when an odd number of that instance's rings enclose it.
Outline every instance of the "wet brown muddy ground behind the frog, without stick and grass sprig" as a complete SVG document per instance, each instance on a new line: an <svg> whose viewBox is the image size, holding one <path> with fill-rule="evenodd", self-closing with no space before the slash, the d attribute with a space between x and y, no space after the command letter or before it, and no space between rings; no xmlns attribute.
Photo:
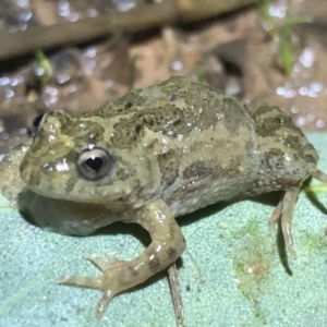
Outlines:
<svg viewBox="0 0 327 327"><path fill-rule="evenodd" d="M292 17L305 15L310 23L292 29L290 76L280 69L280 39L267 36L271 28L283 26L290 14L287 1L266 8L269 21L257 8L249 8L203 23L119 33L1 61L0 153L26 140L39 113L56 108L92 110L122 96L131 86L145 87L173 74L208 81L253 107L264 101L276 104L304 131L327 131L324 1L292 1ZM132 0L3 0L0 28L24 31L135 5Z"/></svg>

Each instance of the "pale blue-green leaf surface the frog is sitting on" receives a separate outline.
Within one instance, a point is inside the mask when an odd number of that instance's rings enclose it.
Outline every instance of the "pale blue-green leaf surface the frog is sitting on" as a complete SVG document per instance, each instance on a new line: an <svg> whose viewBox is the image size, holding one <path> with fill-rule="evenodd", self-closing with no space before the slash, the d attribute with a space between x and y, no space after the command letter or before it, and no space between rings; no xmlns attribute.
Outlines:
<svg viewBox="0 0 327 327"><path fill-rule="evenodd" d="M327 171L327 134L310 140ZM311 185L327 207L327 186ZM84 253L135 257L144 245L134 228L119 225L108 234L71 238L31 226L3 198L0 206L1 327L175 326L165 274L114 298L100 322L94 317L99 291L53 282L65 274L99 274ZM242 201L217 208L179 219L187 242L179 268L185 326L327 326L326 210L301 192L293 219L298 259L289 261L290 275L268 227L271 205Z"/></svg>

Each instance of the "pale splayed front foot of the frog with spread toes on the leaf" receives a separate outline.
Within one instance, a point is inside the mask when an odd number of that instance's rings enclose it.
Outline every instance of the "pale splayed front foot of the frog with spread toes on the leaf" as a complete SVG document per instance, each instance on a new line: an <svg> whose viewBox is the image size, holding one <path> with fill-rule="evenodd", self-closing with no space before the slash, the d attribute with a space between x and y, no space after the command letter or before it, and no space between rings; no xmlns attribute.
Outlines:
<svg viewBox="0 0 327 327"><path fill-rule="evenodd" d="M130 284L120 283L119 277L123 271L129 271L133 269L130 262L120 261L111 255L107 256L109 261L104 261L95 254L85 255L86 259L92 262L96 267L98 267L102 271L102 275L99 277L66 275L56 280L57 283L61 284L92 288L102 291L102 298L97 304L97 318L102 317L109 302L116 294L130 287Z"/></svg>

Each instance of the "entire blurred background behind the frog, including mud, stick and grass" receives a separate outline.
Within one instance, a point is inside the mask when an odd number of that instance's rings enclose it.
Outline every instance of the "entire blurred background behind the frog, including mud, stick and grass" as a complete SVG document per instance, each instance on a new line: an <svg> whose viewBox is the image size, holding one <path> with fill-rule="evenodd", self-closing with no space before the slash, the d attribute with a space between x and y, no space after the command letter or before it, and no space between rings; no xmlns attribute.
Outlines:
<svg viewBox="0 0 327 327"><path fill-rule="evenodd" d="M326 0L1 0L0 153L33 119L185 75L327 130Z"/></svg>

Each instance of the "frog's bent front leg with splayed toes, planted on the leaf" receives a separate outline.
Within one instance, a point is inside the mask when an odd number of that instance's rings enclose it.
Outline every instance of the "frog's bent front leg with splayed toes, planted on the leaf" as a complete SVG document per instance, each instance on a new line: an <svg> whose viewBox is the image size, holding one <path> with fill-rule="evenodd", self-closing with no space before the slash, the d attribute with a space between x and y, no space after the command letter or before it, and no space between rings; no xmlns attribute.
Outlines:
<svg viewBox="0 0 327 327"><path fill-rule="evenodd" d="M185 249L185 239L170 208L162 199L146 205L136 222L152 238L149 246L133 261L113 259L107 263L97 256L88 256L104 272L99 277L64 276L58 283L94 288L104 291L96 316L100 318L110 300L118 293L144 282L156 272L174 263Z"/></svg>

